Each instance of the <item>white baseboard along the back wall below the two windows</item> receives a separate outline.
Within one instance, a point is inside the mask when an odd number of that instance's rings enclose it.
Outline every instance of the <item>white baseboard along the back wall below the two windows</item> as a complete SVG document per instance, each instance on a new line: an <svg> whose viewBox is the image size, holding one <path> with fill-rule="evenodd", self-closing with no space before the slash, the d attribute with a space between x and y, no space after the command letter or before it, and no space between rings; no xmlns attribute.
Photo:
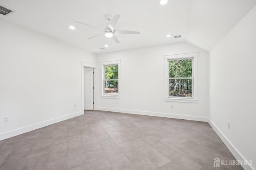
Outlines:
<svg viewBox="0 0 256 170"><path fill-rule="evenodd" d="M107 108L107 107L97 107L96 109L99 111L130 113L134 115L146 115L146 116L167 117L167 118L174 118L174 119L185 119L185 120L191 120L191 121L208 122L208 117L176 115L171 113L159 113L159 112L148 112L148 111L135 111L135 110L128 110L128 109L114 109L114 108Z"/></svg>

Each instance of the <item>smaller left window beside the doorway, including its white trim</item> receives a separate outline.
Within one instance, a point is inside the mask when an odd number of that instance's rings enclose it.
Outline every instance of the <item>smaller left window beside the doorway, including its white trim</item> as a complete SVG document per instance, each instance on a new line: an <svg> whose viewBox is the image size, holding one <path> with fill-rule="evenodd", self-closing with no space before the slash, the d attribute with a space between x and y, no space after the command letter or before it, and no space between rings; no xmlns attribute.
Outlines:
<svg viewBox="0 0 256 170"><path fill-rule="evenodd" d="M120 61L102 62L102 97L119 98Z"/></svg>

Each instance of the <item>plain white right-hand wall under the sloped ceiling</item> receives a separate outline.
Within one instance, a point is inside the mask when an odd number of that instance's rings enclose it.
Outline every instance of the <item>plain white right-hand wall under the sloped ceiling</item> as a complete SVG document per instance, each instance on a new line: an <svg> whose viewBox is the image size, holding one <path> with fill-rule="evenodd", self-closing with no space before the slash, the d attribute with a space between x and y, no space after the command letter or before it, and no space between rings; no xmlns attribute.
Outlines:
<svg viewBox="0 0 256 170"><path fill-rule="evenodd" d="M210 51L210 120L256 168L256 7ZM228 121L231 128L228 128ZM220 135L221 136L221 135ZM232 151L232 147L230 150ZM245 169L250 169L244 166Z"/></svg>

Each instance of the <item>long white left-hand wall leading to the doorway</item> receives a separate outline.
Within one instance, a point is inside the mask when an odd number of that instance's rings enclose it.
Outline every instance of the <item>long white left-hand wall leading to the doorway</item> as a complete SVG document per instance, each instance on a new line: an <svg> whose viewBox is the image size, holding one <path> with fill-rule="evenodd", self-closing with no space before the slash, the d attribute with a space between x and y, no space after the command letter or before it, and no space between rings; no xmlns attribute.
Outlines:
<svg viewBox="0 0 256 170"><path fill-rule="evenodd" d="M81 61L96 55L4 20L0 33L0 140L83 113Z"/></svg>

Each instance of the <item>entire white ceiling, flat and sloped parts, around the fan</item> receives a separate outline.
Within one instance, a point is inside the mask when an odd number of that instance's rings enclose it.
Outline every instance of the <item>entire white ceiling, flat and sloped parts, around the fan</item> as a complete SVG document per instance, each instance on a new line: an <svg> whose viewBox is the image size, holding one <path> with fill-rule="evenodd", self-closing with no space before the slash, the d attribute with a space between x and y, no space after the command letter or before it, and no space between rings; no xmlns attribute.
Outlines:
<svg viewBox="0 0 256 170"><path fill-rule="evenodd" d="M256 5L256 0L0 0L15 12L4 19L36 32L71 43L94 53L132 49L186 41L209 51ZM106 14L120 14L118 30L140 31L140 35L117 35L120 43L96 27L106 26ZM70 30L72 25L76 30ZM180 39L166 34L182 35ZM239 36L239 35L238 35ZM102 51L99 48L108 44Z"/></svg>

